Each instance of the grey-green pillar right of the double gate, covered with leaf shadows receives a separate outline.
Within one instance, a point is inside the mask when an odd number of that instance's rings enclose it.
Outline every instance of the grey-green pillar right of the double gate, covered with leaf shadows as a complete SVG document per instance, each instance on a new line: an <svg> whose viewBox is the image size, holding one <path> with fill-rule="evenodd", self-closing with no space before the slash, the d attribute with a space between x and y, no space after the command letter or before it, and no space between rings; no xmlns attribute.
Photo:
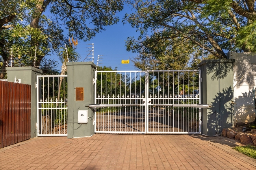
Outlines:
<svg viewBox="0 0 256 170"><path fill-rule="evenodd" d="M223 128L234 125L232 114L234 60L203 60L200 64L202 84L200 95L203 104L213 108L202 109L202 133L216 135Z"/></svg>

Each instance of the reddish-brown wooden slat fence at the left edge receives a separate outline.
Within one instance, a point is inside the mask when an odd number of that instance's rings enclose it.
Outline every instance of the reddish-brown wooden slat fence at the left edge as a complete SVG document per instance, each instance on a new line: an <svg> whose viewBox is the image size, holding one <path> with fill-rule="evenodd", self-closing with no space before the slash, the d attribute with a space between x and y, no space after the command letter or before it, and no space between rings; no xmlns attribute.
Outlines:
<svg viewBox="0 0 256 170"><path fill-rule="evenodd" d="M30 139L31 86L0 81L0 148Z"/></svg>

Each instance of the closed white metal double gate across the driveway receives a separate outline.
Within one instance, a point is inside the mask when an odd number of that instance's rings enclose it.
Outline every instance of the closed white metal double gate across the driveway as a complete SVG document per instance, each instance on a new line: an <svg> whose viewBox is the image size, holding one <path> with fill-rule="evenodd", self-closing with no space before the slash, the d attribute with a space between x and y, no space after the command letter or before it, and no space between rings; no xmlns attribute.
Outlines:
<svg viewBox="0 0 256 170"><path fill-rule="evenodd" d="M96 133L200 133L200 70L95 74Z"/></svg>

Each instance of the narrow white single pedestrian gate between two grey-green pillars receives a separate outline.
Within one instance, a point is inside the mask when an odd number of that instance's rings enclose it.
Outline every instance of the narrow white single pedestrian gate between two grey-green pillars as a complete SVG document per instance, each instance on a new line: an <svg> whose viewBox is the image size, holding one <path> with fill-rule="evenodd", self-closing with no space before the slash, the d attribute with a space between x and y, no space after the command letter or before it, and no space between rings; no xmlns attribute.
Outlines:
<svg viewBox="0 0 256 170"><path fill-rule="evenodd" d="M67 75L37 76L37 135L67 136Z"/></svg>

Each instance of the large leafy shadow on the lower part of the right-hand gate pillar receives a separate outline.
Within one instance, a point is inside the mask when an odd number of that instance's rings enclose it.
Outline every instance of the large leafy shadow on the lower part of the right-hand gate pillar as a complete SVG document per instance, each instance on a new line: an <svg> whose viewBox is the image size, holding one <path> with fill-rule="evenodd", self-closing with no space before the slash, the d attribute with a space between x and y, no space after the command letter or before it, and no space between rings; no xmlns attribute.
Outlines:
<svg viewBox="0 0 256 170"><path fill-rule="evenodd" d="M208 130L217 133L221 133L223 128L231 128L233 126L233 90L231 86L223 89L221 92L215 95L213 102L211 102L212 108L208 109L207 120Z"/></svg>

